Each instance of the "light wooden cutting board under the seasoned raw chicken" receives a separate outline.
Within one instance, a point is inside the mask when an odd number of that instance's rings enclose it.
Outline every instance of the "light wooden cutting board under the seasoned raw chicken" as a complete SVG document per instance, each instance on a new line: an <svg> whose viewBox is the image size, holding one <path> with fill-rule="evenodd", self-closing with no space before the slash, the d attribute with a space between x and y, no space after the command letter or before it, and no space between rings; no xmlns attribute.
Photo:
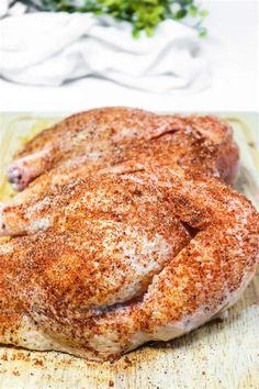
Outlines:
<svg viewBox="0 0 259 389"><path fill-rule="evenodd" d="M256 114L221 114L241 151L237 190L259 208L259 129ZM21 144L64 114L0 116L0 201L12 194L4 170ZM138 348L115 363L89 363L61 353L0 346L0 389L259 388L259 275L224 321L166 343Z"/></svg>

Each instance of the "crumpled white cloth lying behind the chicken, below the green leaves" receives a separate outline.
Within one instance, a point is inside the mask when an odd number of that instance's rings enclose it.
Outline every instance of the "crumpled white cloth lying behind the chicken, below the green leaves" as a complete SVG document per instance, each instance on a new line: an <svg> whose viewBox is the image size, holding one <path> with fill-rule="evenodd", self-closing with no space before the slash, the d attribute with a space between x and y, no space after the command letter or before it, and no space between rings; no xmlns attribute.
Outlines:
<svg viewBox="0 0 259 389"><path fill-rule="evenodd" d="M154 92L209 86L207 64L191 27L165 21L153 37L139 40L131 29L89 13L5 18L0 21L0 75L43 86L95 76Z"/></svg>

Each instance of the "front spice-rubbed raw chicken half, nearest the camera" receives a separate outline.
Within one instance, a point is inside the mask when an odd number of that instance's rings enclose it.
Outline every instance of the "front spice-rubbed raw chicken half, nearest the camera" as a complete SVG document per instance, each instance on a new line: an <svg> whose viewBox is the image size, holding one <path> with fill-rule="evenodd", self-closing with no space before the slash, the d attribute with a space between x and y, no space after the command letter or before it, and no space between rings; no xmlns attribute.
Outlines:
<svg viewBox="0 0 259 389"><path fill-rule="evenodd" d="M14 216L15 215L15 216ZM5 208L0 342L90 359L180 336L251 279L259 216L221 179L131 162Z"/></svg>

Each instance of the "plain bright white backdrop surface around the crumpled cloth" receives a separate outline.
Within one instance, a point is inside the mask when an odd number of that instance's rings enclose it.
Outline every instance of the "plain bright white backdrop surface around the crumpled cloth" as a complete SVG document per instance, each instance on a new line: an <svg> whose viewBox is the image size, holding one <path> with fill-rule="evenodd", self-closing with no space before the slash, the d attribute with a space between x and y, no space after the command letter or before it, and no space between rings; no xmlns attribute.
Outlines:
<svg viewBox="0 0 259 389"><path fill-rule="evenodd" d="M102 105L174 112L259 111L258 1L204 3L210 11L203 49L211 67L211 88L178 96L139 92L93 78L59 88L20 86L0 79L0 111L80 111Z"/></svg>

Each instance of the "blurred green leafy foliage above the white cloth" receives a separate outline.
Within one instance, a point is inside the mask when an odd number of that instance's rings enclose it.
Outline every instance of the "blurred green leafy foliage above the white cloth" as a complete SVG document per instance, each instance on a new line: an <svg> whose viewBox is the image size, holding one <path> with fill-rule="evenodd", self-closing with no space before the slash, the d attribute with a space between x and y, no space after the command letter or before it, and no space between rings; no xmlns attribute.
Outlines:
<svg viewBox="0 0 259 389"><path fill-rule="evenodd" d="M195 0L41 0L41 3L47 11L110 14L130 22L135 37L140 36L143 31L151 36L155 27L164 20L182 20L187 16L194 20L200 36L206 33L202 21L207 11Z"/></svg>

